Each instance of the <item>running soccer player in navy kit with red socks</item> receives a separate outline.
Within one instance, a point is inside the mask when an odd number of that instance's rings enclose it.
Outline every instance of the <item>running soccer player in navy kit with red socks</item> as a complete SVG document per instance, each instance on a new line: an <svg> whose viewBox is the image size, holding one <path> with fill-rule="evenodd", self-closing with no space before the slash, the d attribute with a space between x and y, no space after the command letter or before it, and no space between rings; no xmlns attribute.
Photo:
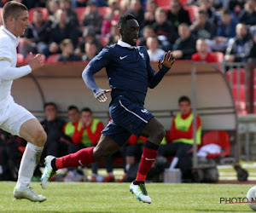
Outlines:
<svg viewBox="0 0 256 213"><path fill-rule="evenodd" d="M143 156L137 171L137 178L131 182L130 191L137 199L150 204L145 183L157 151L165 136L162 124L143 107L148 87L153 89L166 72L172 67L174 59L169 51L164 60L159 60L159 72L154 73L150 66L147 49L136 47L139 25L131 14L119 19L120 40L102 49L102 52L90 61L83 72L84 82L100 102L107 101L108 90L100 89L93 78L96 72L106 67L112 101L109 105L111 120L102 131L102 137L96 147L80 150L62 158L45 158L45 170L41 178L43 188L49 183L55 170L86 165L108 158L125 144L131 134L148 138L143 148Z"/></svg>

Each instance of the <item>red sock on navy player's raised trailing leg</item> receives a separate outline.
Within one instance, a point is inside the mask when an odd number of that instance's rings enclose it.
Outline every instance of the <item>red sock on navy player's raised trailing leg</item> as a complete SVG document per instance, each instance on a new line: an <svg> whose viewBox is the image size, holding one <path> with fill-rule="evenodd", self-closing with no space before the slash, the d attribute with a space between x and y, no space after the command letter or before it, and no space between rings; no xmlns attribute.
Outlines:
<svg viewBox="0 0 256 213"><path fill-rule="evenodd" d="M77 167L79 165L88 165L96 162L93 157L94 148L95 147L83 148L77 153L68 154L61 158L55 158L56 168Z"/></svg>

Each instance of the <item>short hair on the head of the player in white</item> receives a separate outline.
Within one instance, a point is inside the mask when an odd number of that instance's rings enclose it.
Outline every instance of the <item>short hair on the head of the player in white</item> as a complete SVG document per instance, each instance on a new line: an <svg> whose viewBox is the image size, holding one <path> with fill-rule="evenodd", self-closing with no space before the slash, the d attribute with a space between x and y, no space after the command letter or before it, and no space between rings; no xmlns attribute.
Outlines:
<svg viewBox="0 0 256 213"><path fill-rule="evenodd" d="M10 15L12 15L15 18L15 20L18 19L22 11L28 11L28 9L23 3L17 3L15 1L5 3L2 12L3 23L6 23Z"/></svg>

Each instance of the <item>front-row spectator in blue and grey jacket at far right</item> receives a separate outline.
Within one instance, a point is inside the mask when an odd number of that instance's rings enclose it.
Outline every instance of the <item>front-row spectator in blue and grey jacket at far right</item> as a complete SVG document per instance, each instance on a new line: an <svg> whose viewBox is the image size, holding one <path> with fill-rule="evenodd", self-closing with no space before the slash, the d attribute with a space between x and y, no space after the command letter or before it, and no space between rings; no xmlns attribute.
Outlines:
<svg viewBox="0 0 256 213"><path fill-rule="evenodd" d="M245 24L236 26L236 37L230 38L224 59L227 62L246 62L253 48L253 40Z"/></svg>

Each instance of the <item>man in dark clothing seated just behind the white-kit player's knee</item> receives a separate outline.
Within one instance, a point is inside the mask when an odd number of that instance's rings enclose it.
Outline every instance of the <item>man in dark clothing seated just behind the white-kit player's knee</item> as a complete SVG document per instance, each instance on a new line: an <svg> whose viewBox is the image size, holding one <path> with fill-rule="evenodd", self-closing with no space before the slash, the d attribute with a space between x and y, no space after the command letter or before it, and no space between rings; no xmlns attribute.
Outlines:
<svg viewBox="0 0 256 213"><path fill-rule="evenodd" d="M67 153L67 146L61 146L60 142L62 127L65 122L57 117L57 107L53 102L44 104L44 115L45 119L41 124L47 134L47 141L41 159L44 159L47 155L61 157Z"/></svg>

